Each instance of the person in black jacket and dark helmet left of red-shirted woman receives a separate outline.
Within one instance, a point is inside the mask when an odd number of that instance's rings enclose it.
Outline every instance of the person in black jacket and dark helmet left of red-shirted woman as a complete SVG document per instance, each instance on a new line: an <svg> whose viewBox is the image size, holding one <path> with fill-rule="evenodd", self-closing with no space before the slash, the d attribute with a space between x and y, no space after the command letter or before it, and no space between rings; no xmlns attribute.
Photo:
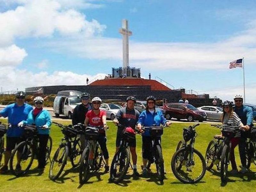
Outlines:
<svg viewBox="0 0 256 192"><path fill-rule="evenodd" d="M89 103L89 100L90 100L90 94L86 92L82 93L81 95L82 104L77 105L73 112L73 116L72 116L73 125L76 125L78 123L84 124L86 113L92 109L92 104ZM84 149L85 148L84 135L80 135L80 140L82 144L82 149Z"/></svg>

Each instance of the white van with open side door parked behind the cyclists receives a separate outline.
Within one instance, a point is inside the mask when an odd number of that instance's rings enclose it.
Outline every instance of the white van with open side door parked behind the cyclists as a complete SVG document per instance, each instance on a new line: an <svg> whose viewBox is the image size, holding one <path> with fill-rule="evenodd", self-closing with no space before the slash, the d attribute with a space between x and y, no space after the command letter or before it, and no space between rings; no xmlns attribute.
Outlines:
<svg viewBox="0 0 256 192"><path fill-rule="evenodd" d="M53 112L56 117L61 115L72 119L73 111L76 105L81 104L82 92L80 91L59 91L53 101Z"/></svg>

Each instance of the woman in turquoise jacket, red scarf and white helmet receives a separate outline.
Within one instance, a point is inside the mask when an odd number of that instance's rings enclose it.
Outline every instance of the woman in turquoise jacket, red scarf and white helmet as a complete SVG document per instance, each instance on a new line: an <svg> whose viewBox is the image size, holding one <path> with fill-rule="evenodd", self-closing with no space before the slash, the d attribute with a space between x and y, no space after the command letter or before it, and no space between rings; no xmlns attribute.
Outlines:
<svg viewBox="0 0 256 192"><path fill-rule="evenodd" d="M35 108L31 110L28 114L26 121L21 121L18 126L23 124L35 124L36 126L42 126L38 129L38 139L39 139L39 151L38 151L38 169L43 170L45 167L45 155L46 155L46 145L49 138L50 130L49 127L52 125L52 119L50 113L43 109L44 99L42 97L36 97L34 99Z"/></svg>

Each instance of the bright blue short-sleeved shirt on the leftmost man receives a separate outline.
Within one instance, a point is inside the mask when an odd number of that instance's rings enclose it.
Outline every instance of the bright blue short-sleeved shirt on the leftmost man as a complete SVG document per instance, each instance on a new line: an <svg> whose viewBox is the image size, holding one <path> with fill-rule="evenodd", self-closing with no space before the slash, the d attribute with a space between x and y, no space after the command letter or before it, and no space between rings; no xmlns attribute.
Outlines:
<svg viewBox="0 0 256 192"><path fill-rule="evenodd" d="M6 136L7 137L20 137L23 133L23 128L18 127L18 123L27 119L28 113L33 109L31 105L24 103L22 106L18 106L16 103L7 105L0 115L3 117L8 117L8 123L12 124L12 127L8 128Z"/></svg>

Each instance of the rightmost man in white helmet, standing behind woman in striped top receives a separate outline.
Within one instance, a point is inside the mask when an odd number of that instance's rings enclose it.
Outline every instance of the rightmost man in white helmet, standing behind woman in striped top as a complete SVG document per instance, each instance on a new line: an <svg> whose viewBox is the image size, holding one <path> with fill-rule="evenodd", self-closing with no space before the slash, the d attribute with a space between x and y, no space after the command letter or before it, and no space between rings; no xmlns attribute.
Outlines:
<svg viewBox="0 0 256 192"><path fill-rule="evenodd" d="M246 168L246 154L245 154L245 141L249 134L248 130L253 126L253 113L252 108L243 105L243 97L241 95L235 95L234 97L235 107L234 111L241 119L241 122L245 125L245 132L241 131L241 139L238 144L239 154L242 164L241 173L248 172Z"/></svg>

